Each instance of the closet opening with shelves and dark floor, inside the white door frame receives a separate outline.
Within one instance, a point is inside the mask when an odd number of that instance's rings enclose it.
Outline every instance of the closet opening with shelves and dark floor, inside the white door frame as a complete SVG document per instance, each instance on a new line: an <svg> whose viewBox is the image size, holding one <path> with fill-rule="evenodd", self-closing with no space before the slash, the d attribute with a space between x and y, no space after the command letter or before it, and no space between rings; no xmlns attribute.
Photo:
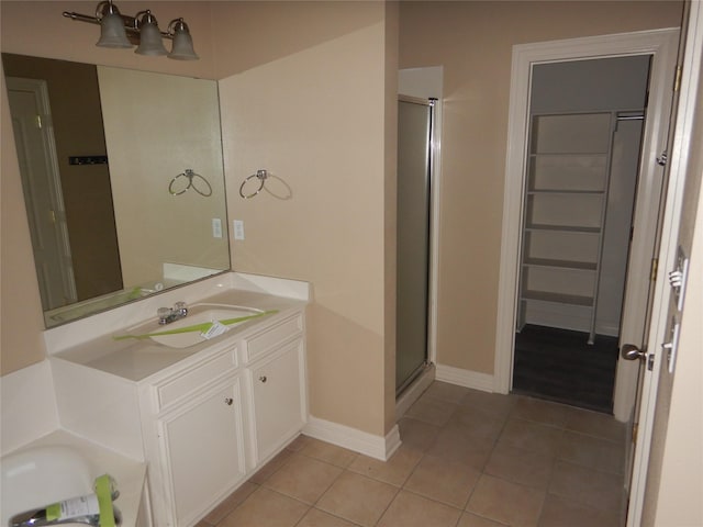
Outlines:
<svg viewBox="0 0 703 527"><path fill-rule="evenodd" d="M533 67L517 393L613 411L650 58Z"/></svg>

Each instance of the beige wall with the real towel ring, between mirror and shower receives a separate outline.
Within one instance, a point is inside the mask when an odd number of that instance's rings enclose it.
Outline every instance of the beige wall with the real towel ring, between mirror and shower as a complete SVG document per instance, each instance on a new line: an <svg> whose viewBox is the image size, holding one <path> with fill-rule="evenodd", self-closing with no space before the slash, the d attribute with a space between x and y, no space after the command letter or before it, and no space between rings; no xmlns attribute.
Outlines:
<svg viewBox="0 0 703 527"><path fill-rule="evenodd" d="M386 127L394 119L386 115L384 94L387 67L390 78L398 69L386 63L386 7L280 7L246 4L239 21L227 20L226 5L222 16L215 8L224 21L216 26L219 49L247 45L254 35L239 31L242 21L264 43L260 64L220 83L230 218L245 225L245 239L232 247L233 267L312 282L311 413L383 435L394 373L387 361L394 355L387 346L386 272L393 269L386 268L383 224L392 192L387 171L395 169L387 164ZM283 42L294 41L293 27L304 45L268 53L280 31ZM391 90L394 97L394 81ZM267 181L270 193L244 200L239 186L257 169L280 179ZM256 188L248 183L245 193ZM289 189L290 199L280 199Z"/></svg>

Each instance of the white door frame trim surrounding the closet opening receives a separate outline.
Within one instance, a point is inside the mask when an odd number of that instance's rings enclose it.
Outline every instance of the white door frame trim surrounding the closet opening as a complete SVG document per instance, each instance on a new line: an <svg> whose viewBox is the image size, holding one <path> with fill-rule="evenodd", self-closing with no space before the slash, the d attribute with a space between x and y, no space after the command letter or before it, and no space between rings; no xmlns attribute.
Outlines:
<svg viewBox="0 0 703 527"><path fill-rule="evenodd" d="M678 41L679 29L672 27L513 46L493 374L495 392L509 393L512 386L532 66L563 60L652 55L640 183L637 190L639 201L639 194L650 197L652 192L660 191L662 170L656 158L666 149L667 144L668 127L663 123L669 116L668 101L671 97L671 76L676 66ZM658 210L637 212L637 222L643 225L640 233L656 232L657 213ZM629 260L646 262L647 269L643 269L639 274L643 277L649 274L652 255L647 254L647 244L638 238L636 235L633 239ZM631 269L629 273L632 272ZM634 290L638 299L633 299L633 304L646 306L647 291L648 288ZM623 316L628 315L623 313ZM641 316L644 318L644 313ZM621 338L624 337L621 335ZM634 341L643 339L641 335L627 337ZM634 405L637 370L621 368L622 362L618 361L615 380L614 412L618 421L626 422L631 418Z"/></svg>

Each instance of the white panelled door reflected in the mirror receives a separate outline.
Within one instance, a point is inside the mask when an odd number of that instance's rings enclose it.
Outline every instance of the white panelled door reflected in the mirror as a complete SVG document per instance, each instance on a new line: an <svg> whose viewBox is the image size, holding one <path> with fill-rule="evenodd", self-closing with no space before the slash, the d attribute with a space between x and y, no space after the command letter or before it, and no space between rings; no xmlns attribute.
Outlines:
<svg viewBox="0 0 703 527"><path fill-rule="evenodd" d="M48 91L44 80L7 81L42 305L53 310L77 294Z"/></svg>

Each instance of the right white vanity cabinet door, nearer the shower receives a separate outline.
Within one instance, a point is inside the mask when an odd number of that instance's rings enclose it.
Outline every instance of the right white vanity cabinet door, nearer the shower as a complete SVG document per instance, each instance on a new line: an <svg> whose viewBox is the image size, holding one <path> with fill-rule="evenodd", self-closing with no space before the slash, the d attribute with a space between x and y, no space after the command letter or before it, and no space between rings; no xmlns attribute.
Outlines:
<svg viewBox="0 0 703 527"><path fill-rule="evenodd" d="M249 369L258 462L280 448L305 423L303 343L295 340Z"/></svg>

